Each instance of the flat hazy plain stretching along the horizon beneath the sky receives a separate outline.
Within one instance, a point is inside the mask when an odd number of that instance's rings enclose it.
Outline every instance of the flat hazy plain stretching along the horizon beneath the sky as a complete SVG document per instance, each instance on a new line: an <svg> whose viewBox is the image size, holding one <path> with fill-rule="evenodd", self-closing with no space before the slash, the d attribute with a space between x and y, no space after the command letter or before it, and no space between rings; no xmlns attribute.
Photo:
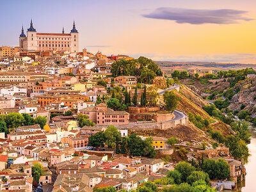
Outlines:
<svg viewBox="0 0 256 192"><path fill-rule="evenodd" d="M254 68L256 64L241 64L241 63L211 63L211 62L174 62L174 61L155 61L159 67L166 70L230 70L241 68Z"/></svg>

